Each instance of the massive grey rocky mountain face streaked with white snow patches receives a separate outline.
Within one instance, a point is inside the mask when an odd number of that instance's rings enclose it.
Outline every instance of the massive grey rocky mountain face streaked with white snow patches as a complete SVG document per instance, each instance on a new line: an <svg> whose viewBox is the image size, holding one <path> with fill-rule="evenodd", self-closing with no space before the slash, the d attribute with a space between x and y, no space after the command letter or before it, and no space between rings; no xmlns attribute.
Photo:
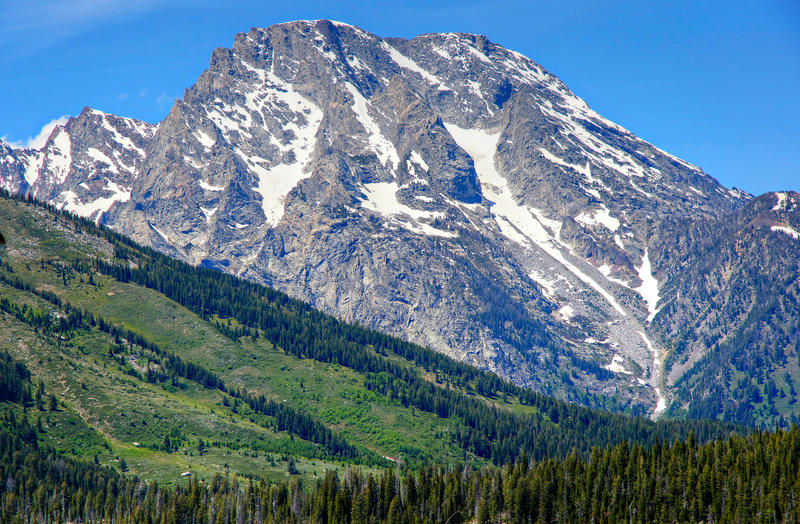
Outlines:
<svg viewBox="0 0 800 524"><path fill-rule="evenodd" d="M519 384L654 415L683 387L684 287L721 289L681 269L686 235L703 241L687 232L754 205L483 36L324 20L237 35L158 126L86 109L41 151L3 146L0 184ZM745 319L709 322L724 338Z"/></svg>

